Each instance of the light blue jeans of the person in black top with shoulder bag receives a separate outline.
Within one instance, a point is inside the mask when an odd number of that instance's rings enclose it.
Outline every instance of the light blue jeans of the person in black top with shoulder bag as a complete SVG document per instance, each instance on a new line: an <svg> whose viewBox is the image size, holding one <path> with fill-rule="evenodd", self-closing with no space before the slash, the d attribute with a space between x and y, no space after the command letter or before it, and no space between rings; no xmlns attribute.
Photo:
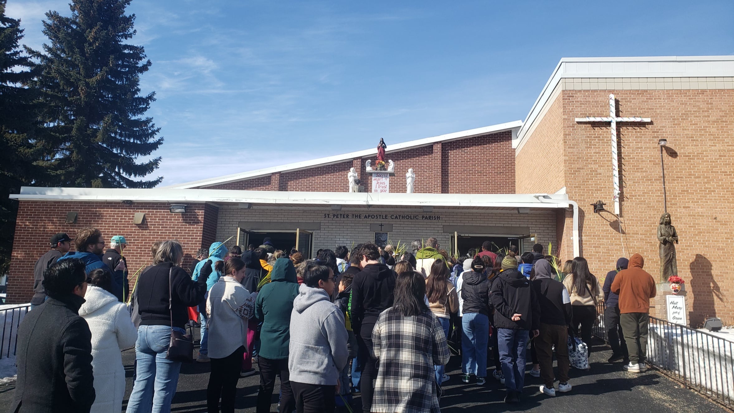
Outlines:
<svg viewBox="0 0 734 413"><path fill-rule="evenodd" d="M185 333L183 328L174 327ZM127 413L168 413L178 385L180 362L166 359L171 340L169 326L140 326L135 342L137 376Z"/></svg>

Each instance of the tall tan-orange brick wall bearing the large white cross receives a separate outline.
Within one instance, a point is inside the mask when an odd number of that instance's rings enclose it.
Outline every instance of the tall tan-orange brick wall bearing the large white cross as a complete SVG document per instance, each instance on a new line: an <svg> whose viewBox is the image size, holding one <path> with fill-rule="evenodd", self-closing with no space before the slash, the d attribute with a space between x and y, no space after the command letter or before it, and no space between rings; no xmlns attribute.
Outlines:
<svg viewBox="0 0 734 413"><path fill-rule="evenodd" d="M734 267L726 248L717 248L722 240L731 239L730 225L734 222L734 209L729 206L734 197L730 184L734 170L734 90L613 91L619 101L619 116L643 116L653 121L644 126L618 124L622 234L611 213L614 205L608 123L574 121L576 117L608 112L610 92L562 92L564 185L581 209L582 254L589 260L593 273L605 276L619 256L639 253L645 258L645 270L656 281L660 279L656 231L664 205L658 139L666 138L667 205L680 236L677 266L679 275L686 280L688 321L698 326L705 317L715 316L722 318L725 325L734 324ZM558 116L557 111L553 116ZM535 133L541 133L540 128ZM531 168L521 171L519 159L523 152L531 150L529 145L543 142L541 135L537 137L541 139L530 137L518 155L518 182L534 172ZM556 137L548 134L545 139ZM558 162L554 151L535 151L532 160L536 165ZM548 181L537 190L551 192L557 186ZM518 184L518 190L519 187ZM611 212L595 214L590 204L597 199L606 202L606 209ZM571 215L567 214L564 224L558 226L564 237L563 259L572 258L571 229Z"/></svg>

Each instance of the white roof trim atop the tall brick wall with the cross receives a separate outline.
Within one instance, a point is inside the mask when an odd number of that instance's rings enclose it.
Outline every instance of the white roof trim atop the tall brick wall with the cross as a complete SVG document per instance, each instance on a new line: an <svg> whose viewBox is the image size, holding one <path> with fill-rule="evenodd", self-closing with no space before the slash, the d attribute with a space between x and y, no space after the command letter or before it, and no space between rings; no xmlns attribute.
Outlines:
<svg viewBox="0 0 734 413"><path fill-rule="evenodd" d="M734 56L564 57L545 82L540 95L517 132L520 148L548 98L561 79L624 77L734 76Z"/></svg>

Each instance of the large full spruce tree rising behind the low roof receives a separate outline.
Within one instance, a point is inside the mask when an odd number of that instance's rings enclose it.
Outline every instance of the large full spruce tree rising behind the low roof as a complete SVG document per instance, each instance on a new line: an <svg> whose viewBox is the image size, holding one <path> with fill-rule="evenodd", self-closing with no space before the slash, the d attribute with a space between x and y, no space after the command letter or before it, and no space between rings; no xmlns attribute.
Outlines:
<svg viewBox="0 0 734 413"><path fill-rule="evenodd" d="M41 119L54 154L44 165L59 186L150 188L161 182L135 180L158 168L147 157L163 139L152 118L143 117L155 93L139 96L139 76L150 68L142 46L125 43L135 35L131 0L72 0L70 17L46 13L43 52L34 86L42 93ZM143 62L145 60L145 62Z"/></svg>

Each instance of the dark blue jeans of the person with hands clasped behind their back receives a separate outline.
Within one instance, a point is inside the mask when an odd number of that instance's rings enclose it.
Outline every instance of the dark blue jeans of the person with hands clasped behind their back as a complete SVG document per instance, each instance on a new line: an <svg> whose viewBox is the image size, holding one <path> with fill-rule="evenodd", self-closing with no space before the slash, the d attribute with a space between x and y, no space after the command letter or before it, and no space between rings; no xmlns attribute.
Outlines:
<svg viewBox="0 0 734 413"><path fill-rule="evenodd" d="M522 392L525 386L525 352L529 337L528 330L497 328L500 363L508 392Z"/></svg>

